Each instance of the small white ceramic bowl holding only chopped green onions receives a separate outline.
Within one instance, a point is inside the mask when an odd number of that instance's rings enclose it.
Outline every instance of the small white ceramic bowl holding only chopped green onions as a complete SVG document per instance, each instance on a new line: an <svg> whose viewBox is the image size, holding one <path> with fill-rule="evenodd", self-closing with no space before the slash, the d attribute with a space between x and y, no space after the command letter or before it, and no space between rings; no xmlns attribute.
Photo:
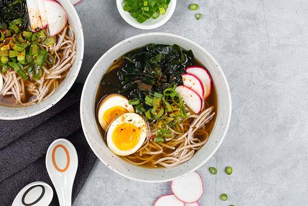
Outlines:
<svg viewBox="0 0 308 206"><path fill-rule="evenodd" d="M137 22L136 18L133 18L129 12L123 10L124 0L117 0L117 7L122 18L129 25L136 27L138 29L155 29L162 25L164 25L171 18L172 14L176 10L177 0L171 0L168 8L166 9L166 13L164 15L160 15L157 19L150 18L140 24Z"/></svg>

